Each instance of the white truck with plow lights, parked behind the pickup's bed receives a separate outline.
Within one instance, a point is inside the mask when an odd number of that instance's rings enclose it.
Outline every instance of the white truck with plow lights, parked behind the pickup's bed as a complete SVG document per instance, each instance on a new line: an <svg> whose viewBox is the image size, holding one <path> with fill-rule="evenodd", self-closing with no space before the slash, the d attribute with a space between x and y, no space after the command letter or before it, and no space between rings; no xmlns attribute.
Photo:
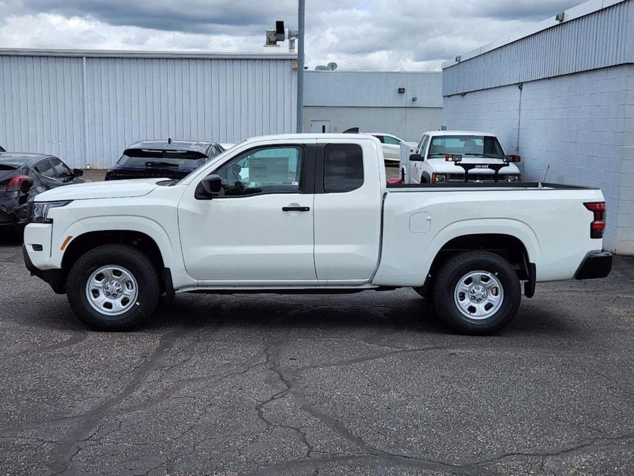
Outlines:
<svg viewBox="0 0 634 476"><path fill-rule="evenodd" d="M401 178L408 184L464 182L465 169L446 156L459 156L460 163L476 165L468 171L469 182L491 183L520 182L521 174L515 163L500 168L496 177L494 167L504 163L504 150L500 141L487 132L464 130L436 130L425 132L416 145L414 156L410 147L403 145L405 152L400 154ZM414 160L412 160L414 159ZM516 159L517 160L517 159Z"/></svg>

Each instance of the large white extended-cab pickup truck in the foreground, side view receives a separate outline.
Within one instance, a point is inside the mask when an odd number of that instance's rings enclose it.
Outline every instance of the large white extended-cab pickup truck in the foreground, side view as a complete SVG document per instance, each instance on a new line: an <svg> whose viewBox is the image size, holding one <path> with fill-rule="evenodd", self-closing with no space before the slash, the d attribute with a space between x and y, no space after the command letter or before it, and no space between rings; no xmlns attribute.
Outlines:
<svg viewBox="0 0 634 476"><path fill-rule="evenodd" d="M599 189L386 184L381 143L351 134L249 139L181 180L37 195L27 268L95 329L128 329L174 292L414 287L462 333L502 329L535 283L601 278Z"/></svg>

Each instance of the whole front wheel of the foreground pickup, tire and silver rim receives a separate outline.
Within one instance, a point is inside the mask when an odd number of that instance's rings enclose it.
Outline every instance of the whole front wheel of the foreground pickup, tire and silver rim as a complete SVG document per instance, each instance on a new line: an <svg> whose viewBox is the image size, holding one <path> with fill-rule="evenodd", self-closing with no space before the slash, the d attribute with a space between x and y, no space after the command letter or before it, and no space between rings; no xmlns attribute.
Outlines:
<svg viewBox="0 0 634 476"><path fill-rule="evenodd" d="M78 259L67 281L71 309L100 331L126 331L154 313L160 285L156 268L142 252L104 245Z"/></svg>

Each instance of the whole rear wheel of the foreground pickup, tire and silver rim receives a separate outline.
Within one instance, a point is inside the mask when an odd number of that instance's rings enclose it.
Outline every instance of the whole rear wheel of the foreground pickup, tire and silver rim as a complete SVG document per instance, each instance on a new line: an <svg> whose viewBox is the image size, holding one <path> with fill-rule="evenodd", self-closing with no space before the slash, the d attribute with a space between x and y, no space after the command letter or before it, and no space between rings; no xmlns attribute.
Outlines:
<svg viewBox="0 0 634 476"><path fill-rule="evenodd" d="M486 335L504 329L515 317L521 287L513 267L497 254L466 252L438 273L434 306L454 331Z"/></svg>

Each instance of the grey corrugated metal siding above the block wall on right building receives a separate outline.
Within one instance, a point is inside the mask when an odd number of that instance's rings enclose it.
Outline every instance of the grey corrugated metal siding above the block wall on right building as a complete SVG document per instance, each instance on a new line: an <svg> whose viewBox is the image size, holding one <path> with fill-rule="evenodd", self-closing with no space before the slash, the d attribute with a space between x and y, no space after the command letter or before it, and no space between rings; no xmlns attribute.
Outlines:
<svg viewBox="0 0 634 476"><path fill-rule="evenodd" d="M624 1L443 70L443 95L552 78L628 62L634 1Z"/></svg>

